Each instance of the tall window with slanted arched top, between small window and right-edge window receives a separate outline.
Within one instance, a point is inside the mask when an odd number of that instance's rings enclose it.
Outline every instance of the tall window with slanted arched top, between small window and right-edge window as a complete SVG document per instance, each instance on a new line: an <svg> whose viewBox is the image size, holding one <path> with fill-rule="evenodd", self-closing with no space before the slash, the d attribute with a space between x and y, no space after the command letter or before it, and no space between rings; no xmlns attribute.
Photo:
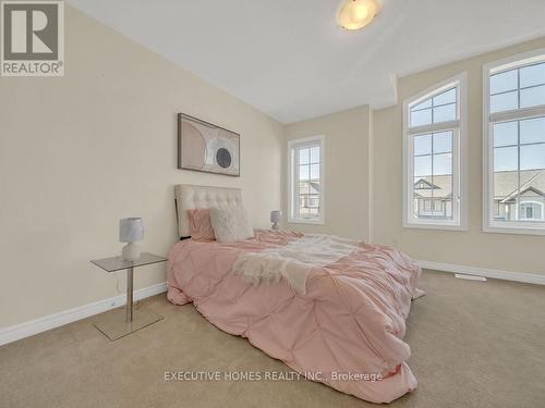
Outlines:
<svg viewBox="0 0 545 408"><path fill-rule="evenodd" d="M465 74L403 103L403 226L465 228Z"/></svg>

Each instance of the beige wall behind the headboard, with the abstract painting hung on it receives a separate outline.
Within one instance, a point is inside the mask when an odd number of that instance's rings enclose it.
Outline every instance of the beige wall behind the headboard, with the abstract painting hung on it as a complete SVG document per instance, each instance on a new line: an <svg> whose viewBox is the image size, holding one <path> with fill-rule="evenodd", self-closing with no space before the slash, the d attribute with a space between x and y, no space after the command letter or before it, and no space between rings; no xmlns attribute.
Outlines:
<svg viewBox="0 0 545 408"><path fill-rule="evenodd" d="M119 254L124 217L166 255L175 184L242 187L258 226L281 205L279 123L68 5L65 42L64 77L0 78L0 327L123 293L89 260ZM241 133L242 177L177 170L177 112Z"/></svg>

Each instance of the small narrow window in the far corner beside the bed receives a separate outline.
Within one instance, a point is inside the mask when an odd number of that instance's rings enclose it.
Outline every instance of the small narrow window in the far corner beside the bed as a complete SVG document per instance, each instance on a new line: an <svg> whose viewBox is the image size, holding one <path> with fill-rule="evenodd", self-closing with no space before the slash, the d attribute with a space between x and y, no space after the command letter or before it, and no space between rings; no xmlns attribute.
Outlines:
<svg viewBox="0 0 545 408"><path fill-rule="evenodd" d="M324 136L288 143L289 222L324 223Z"/></svg>

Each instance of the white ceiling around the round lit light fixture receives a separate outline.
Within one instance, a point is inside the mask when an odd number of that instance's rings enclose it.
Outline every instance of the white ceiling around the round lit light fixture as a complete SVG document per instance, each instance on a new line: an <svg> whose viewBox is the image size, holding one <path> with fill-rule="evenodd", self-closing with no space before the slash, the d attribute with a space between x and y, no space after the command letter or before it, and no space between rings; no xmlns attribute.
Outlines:
<svg viewBox="0 0 545 408"><path fill-rule="evenodd" d="M544 0L384 0L359 32L340 0L69 0L283 123L396 103L395 76L545 35Z"/></svg>

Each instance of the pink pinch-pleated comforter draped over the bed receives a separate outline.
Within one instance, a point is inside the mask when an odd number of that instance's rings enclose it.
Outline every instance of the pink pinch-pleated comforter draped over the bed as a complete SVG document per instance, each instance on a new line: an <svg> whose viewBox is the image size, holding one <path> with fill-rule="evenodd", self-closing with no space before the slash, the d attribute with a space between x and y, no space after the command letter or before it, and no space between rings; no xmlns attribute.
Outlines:
<svg viewBox="0 0 545 408"><path fill-rule="evenodd" d="M193 301L219 329L362 399L389 403L414 390L405 363L411 349L402 338L420 267L393 248L362 243L339 261L313 269L306 295L282 281L251 285L231 272L243 251L300 236L257 231L255 239L234 244L179 242L169 255L168 299Z"/></svg>

